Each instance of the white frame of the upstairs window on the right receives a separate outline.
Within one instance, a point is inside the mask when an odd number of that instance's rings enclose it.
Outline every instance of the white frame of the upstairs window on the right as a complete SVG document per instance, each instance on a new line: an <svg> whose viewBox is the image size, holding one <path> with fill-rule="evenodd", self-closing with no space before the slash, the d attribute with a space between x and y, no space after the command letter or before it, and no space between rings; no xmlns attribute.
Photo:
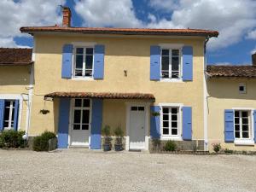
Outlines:
<svg viewBox="0 0 256 192"><path fill-rule="evenodd" d="M160 52L160 81L162 81L162 82L183 82L183 52L182 52L182 48L184 45L183 44L159 44L159 45L160 45L160 49L161 49L161 52ZM162 49L169 49L169 78L162 78ZM172 52L172 49L179 50L179 78L178 79L172 78L172 56L170 57L170 52ZM170 76L170 74L171 74L171 76Z"/></svg>

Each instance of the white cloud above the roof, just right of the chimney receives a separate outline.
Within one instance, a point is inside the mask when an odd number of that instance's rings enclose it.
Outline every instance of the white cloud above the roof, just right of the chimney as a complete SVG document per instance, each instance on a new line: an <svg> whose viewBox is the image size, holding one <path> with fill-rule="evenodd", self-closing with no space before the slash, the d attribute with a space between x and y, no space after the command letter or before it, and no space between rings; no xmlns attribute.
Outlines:
<svg viewBox="0 0 256 192"><path fill-rule="evenodd" d="M74 9L83 18L84 26L143 26L131 0L77 0Z"/></svg>

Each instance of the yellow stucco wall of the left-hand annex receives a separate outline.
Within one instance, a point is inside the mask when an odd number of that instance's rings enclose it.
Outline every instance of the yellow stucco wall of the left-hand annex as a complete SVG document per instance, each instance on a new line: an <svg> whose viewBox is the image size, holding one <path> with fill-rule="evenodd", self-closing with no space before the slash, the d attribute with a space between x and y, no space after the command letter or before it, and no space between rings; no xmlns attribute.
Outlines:
<svg viewBox="0 0 256 192"><path fill-rule="evenodd" d="M15 94L27 96L30 79L30 65L28 66L0 66L0 95ZM27 101L22 102L20 130L26 129Z"/></svg>

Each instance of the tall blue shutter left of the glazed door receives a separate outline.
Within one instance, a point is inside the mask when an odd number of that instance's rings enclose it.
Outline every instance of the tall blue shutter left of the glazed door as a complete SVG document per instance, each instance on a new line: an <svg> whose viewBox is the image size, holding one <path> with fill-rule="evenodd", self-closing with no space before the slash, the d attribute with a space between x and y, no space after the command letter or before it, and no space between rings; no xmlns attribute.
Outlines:
<svg viewBox="0 0 256 192"><path fill-rule="evenodd" d="M58 148L68 146L70 99L60 99L59 126L58 126Z"/></svg>

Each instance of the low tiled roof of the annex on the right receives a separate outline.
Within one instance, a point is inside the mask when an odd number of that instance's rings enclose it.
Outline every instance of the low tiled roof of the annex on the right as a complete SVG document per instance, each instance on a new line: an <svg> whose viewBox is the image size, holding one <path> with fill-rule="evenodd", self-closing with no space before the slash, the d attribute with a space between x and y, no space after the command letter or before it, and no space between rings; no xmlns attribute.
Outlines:
<svg viewBox="0 0 256 192"><path fill-rule="evenodd" d="M253 66L207 66L209 77L256 78L256 67Z"/></svg>

